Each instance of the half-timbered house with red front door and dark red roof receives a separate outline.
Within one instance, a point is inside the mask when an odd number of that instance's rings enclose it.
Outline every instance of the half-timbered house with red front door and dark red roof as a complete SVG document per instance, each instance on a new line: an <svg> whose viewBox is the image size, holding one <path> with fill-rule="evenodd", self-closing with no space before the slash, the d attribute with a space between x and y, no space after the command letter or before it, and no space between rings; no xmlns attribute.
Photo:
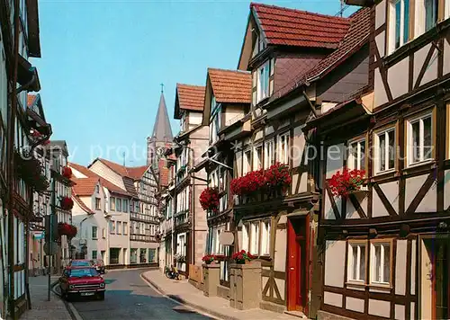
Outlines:
<svg viewBox="0 0 450 320"><path fill-rule="evenodd" d="M252 73L252 102L239 124L248 135L234 142L234 177L285 165L292 182L285 190L236 197L238 249L262 262L261 307L314 317L321 294L320 183L313 179L319 169L309 161L313 134L302 129L365 87L369 12L342 18L263 4L250 8L238 68Z"/></svg>

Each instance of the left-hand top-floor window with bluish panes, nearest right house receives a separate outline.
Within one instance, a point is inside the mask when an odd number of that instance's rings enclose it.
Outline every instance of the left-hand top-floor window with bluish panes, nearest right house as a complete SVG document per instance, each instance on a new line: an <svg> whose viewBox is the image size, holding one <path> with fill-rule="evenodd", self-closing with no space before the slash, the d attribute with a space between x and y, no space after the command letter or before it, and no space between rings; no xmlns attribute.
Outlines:
<svg viewBox="0 0 450 320"><path fill-rule="evenodd" d="M410 0L393 0L390 13L390 47L392 52L408 42L410 37Z"/></svg>

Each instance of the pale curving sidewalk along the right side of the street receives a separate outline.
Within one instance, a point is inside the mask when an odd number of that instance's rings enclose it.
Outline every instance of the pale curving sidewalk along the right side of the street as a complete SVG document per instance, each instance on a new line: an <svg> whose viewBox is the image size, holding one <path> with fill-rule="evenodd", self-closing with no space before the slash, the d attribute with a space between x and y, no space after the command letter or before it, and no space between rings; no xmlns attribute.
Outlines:
<svg viewBox="0 0 450 320"><path fill-rule="evenodd" d="M142 274L159 291L170 298L193 307L211 316L227 320L299 320L296 316L288 316L263 309L238 310L229 307L229 300L219 297L205 297L203 292L195 289L187 280L169 280L160 271L147 271Z"/></svg>

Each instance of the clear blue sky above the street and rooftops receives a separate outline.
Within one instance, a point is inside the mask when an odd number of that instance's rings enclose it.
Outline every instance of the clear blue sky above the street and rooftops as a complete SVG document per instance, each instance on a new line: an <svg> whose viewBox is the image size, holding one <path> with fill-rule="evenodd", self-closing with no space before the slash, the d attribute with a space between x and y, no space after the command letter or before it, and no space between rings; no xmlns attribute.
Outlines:
<svg viewBox="0 0 450 320"><path fill-rule="evenodd" d="M259 1L335 14L339 0ZM52 139L71 161L145 164L160 85L173 117L175 84L207 67L236 68L249 1L40 0L40 95ZM347 10L350 13L352 8ZM346 14L347 15L347 14ZM178 123L172 120L174 135Z"/></svg>

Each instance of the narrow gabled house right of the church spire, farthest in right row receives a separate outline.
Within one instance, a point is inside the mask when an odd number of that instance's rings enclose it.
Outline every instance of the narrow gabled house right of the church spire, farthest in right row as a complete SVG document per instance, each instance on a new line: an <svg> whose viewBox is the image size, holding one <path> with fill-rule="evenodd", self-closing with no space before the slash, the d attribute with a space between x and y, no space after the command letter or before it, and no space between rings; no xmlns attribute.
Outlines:
<svg viewBox="0 0 450 320"><path fill-rule="evenodd" d="M166 216L173 221L176 265L186 277L191 265L202 264L207 234L206 214L198 200L206 185L206 173L191 172L208 148L208 127L202 125L203 102L204 86L176 84L174 117L180 120L180 132L166 152L171 198L167 199Z"/></svg>

